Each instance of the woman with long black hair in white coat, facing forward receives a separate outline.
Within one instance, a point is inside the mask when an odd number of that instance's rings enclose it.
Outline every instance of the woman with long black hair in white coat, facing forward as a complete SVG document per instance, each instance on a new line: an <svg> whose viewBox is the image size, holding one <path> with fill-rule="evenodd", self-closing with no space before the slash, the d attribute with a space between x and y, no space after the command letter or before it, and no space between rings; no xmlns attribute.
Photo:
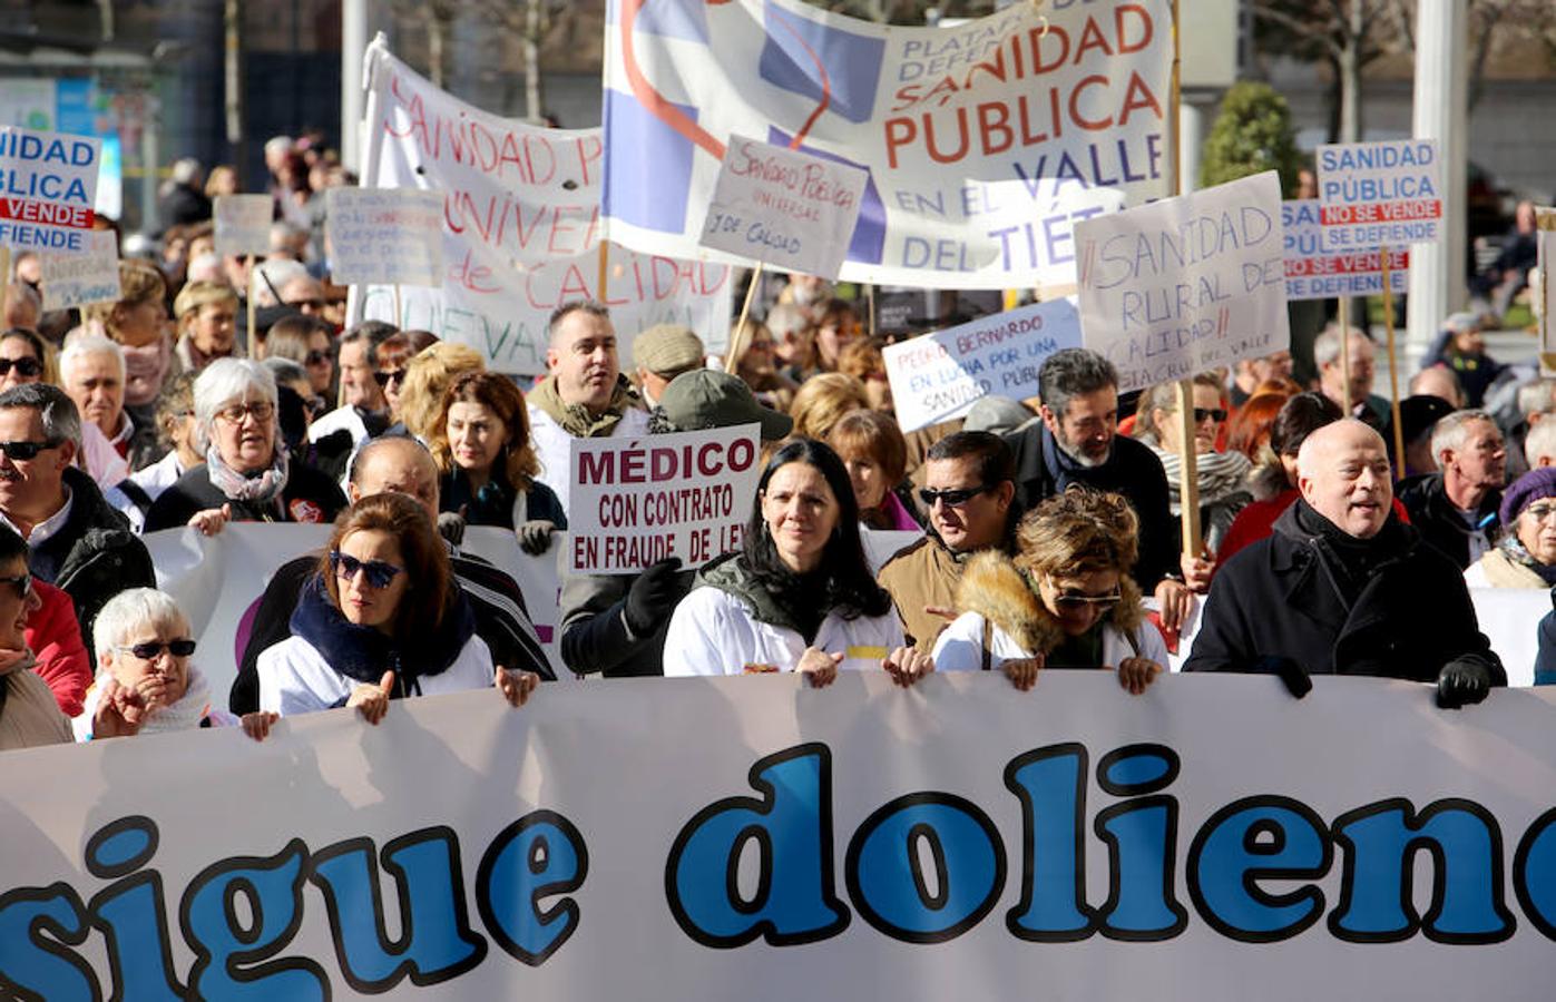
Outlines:
<svg viewBox="0 0 1556 1002"><path fill-rule="evenodd" d="M892 596L870 574L843 461L790 442L762 470L741 551L702 568L675 607L664 674L795 671L820 688L839 667L874 666L904 686L934 671L904 646Z"/></svg>

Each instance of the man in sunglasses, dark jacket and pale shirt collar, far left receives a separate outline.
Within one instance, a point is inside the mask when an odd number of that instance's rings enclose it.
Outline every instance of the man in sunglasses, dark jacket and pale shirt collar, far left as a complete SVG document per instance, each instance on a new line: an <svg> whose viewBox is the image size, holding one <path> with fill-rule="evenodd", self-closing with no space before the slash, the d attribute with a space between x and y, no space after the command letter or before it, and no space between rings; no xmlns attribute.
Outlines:
<svg viewBox="0 0 1556 1002"><path fill-rule="evenodd" d="M126 518L73 465L79 442L81 414L58 386L0 394L0 518L26 540L33 574L70 594L92 655L98 610L157 576Z"/></svg>

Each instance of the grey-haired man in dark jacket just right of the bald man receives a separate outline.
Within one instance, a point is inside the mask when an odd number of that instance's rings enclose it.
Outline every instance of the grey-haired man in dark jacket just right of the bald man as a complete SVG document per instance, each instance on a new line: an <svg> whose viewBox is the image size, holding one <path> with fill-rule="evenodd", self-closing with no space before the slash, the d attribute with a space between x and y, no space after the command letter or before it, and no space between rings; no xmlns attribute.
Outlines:
<svg viewBox="0 0 1556 1002"><path fill-rule="evenodd" d="M1432 457L1438 471L1400 482L1399 499L1410 524L1463 571L1497 534L1508 448L1491 414L1455 411L1432 426Z"/></svg>

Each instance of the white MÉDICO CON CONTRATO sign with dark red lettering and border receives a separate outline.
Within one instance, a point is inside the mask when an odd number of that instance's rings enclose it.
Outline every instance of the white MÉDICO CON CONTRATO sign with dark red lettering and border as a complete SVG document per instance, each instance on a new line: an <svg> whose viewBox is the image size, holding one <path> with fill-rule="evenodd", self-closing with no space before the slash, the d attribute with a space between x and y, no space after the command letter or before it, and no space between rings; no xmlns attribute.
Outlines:
<svg viewBox="0 0 1556 1002"><path fill-rule="evenodd" d="M697 566L741 546L761 475L761 426L638 439L573 439L568 568L635 574L666 557Z"/></svg>

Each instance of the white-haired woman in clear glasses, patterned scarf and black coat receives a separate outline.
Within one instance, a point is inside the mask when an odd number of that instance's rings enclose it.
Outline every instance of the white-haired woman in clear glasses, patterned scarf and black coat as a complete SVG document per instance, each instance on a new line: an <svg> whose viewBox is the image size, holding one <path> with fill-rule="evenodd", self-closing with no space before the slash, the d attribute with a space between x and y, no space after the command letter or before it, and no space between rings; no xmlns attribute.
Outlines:
<svg viewBox="0 0 1556 1002"><path fill-rule="evenodd" d="M345 495L328 476L288 456L280 437L275 378L246 358L213 361L194 381L196 436L205 465L162 492L146 532L227 521L328 523Z"/></svg>

